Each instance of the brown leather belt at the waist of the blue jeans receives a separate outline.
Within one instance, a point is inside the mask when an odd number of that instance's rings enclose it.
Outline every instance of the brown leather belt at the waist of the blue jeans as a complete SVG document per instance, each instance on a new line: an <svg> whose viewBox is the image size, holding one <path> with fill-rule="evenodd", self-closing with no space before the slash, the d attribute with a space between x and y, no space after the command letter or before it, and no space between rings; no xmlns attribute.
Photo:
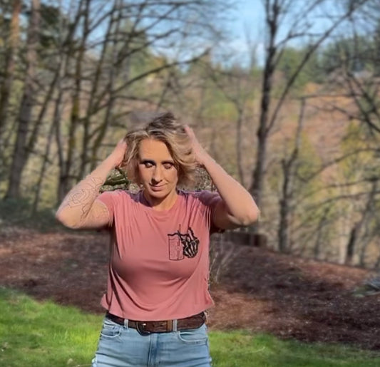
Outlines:
<svg viewBox="0 0 380 367"><path fill-rule="evenodd" d="M122 317L106 313L106 317L111 319L116 324L124 325L125 319ZM177 320L177 330L184 329L197 329L206 321L206 315L204 312L200 314L186 317L185 319ZM136 329L141 335L148 335L151 333L170 333L173 331L173 320L165 320L165 321L135 321L128 320L128 327L132 329Z"/></svg>

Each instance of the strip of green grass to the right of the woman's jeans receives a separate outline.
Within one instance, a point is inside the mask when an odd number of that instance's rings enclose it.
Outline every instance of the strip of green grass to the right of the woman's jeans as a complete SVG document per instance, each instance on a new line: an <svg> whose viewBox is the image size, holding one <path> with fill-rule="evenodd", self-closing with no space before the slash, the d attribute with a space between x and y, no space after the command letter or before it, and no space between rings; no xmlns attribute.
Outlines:
<svg viewBox="0 0 380 367"><path fill-rule="evenodd" d="M380 366L380 353L342 344L281 341L246 331L210 332L210 343L215 367Z"/></svg>

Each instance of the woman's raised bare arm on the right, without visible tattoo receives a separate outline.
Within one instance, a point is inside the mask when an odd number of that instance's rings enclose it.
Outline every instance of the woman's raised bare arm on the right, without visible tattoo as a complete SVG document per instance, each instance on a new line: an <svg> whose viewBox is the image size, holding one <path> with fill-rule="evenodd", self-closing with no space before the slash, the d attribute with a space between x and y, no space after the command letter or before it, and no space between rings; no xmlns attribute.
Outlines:
<svg viewBox="0 0 380 367"><path fill-rule="evenodd" d="M192 141L197 162L205 167L222 197L214 210L214 224L221 229L231 229L256 222L260 211L250 193L210 157L191 128L186 126L185 130Z"/></svg>

